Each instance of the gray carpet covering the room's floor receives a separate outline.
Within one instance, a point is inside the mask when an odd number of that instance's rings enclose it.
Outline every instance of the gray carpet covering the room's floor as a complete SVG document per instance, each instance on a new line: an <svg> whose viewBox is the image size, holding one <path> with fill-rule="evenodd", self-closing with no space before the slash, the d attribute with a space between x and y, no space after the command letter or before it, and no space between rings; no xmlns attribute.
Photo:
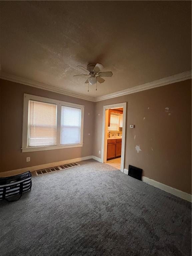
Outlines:
<svg viewBox="0 0 192 256"><path fill-rule="evenodd" d="M1 256L191 256L191 204L88 160L0 202Z"/></svg>

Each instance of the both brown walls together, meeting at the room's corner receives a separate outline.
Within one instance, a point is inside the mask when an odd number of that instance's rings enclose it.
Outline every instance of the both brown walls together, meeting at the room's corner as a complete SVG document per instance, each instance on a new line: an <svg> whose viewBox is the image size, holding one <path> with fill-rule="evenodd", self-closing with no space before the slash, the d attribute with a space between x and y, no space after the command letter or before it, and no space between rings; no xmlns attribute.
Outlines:
<svg viewBox="0 0 192 256"><path fill-rule="evenodd" d="M191 80L97 103L6 80L0 80L0 89L1 172L89 155L101 157L103 106L127 102L125 168L140 167L144 176L191 193ZM84 105L83 147L22 153L24 93Z"/></svg>

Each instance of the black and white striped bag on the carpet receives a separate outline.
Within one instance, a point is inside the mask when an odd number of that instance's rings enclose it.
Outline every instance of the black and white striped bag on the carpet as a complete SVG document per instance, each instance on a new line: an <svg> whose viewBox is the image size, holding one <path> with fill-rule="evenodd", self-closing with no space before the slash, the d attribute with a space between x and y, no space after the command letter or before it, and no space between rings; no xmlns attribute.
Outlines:
<svg viewBox="0 0 192 256"><path fill-rule="evenodd" d="M0 178L0 200L5 199L9 202L17 201L21 198L23 192L31 190L31 186L32 181L30 172ZM10 197L12 197L12 199Z"/></svg>

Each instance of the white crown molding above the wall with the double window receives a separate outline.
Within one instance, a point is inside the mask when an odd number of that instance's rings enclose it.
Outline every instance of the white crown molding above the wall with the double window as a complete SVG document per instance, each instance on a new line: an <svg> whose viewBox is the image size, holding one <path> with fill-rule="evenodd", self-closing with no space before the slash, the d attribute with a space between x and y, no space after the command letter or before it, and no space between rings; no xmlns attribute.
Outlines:
<svg viewBox="0 0 192 256"><path fill-rule="evenodd" d="M25 78L22 78L22 77L9 75L9 74L5 74L5 73L2 73L2 72L0 74L0 78L4 79L4 80L11 81L11 82L29 85L29 86L36 87L36 88L39 88L39 89L43 89L43 90L47 90L47 91L51 91L51 92L56 92L56 93L64 94L64 95L67 95L67 96L71 96L71 97L75 97L75 98L79 98L79 99L83 99L83 100L95 101L94 97L86 96L86 95L76 93L76 92L72 92L72 91L67 91L67 90L64 90L64 89L61 89L61 88L56 88L56 87L51 86L51 85L46 85L46 84L43 84L43 83L31 81L31 80L28 80L28 79L25 79Z"/></svg>

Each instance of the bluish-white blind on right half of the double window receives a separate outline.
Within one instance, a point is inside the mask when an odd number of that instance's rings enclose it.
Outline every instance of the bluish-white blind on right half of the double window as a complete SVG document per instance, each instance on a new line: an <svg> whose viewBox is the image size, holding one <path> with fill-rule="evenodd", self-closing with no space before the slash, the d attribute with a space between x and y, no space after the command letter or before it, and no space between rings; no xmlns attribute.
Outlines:
<svg viewBox="0 0 192 256"><path fill-rule="evenodd" d="M61 107L61 144L80 143L81 109Z"/></svg>

